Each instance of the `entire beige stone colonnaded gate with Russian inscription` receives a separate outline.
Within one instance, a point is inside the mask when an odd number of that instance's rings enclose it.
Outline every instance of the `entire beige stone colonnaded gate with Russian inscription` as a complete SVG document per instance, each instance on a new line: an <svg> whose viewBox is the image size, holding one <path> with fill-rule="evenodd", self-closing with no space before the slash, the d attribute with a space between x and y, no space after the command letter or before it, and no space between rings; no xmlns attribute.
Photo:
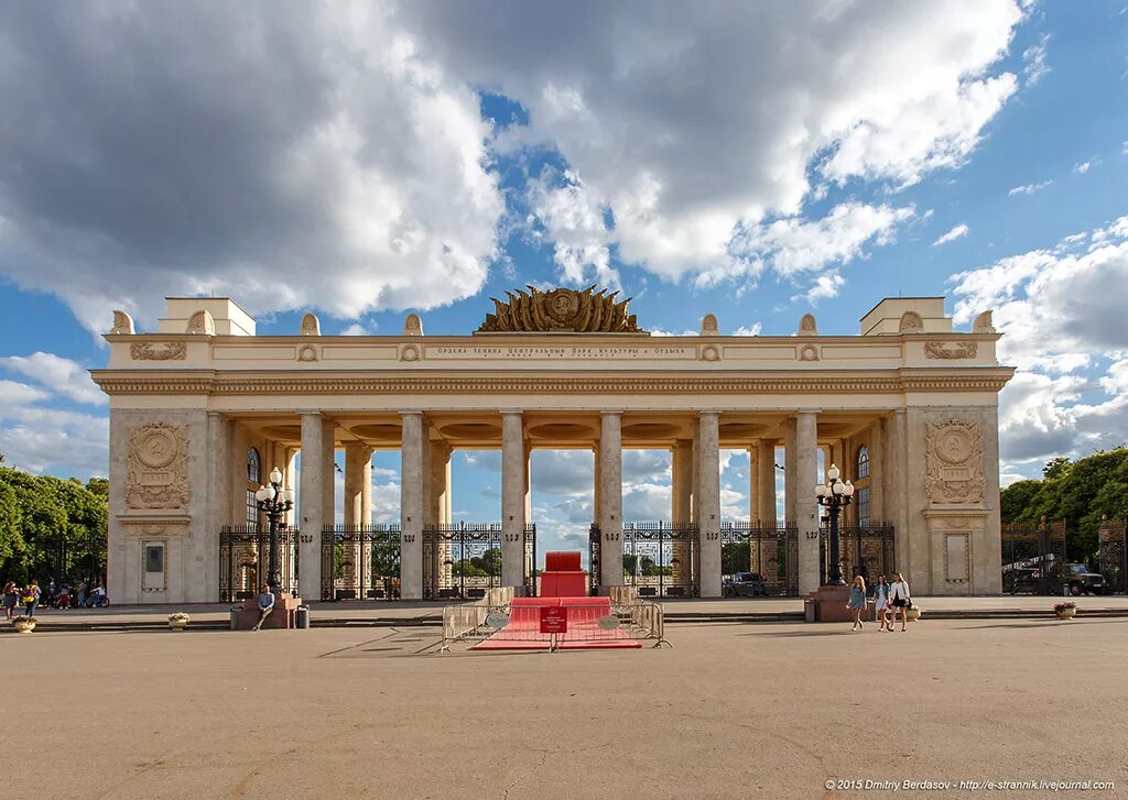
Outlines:
<svg viewBox="0 0 1128 800"><path fill-rule="evenodd" d="M567 305L567 290L541 297L553 313L587 313L583 297L579 311ZM345 521L363 524L371 453L400 450L402 594L421 597L423 530L450 523L450 454L468 447L502 452L505 584L531 568L520 532L536 522L532 450L596 453L596 581L607 587L623 583L623 450L668 448L671 518L696 531L699 593L720 595L720 451L741 448L760 521L776 521L785 466L801 592L819 583L820 451L867 490L869 518L892 523L897 565L917 594L999 592L997 397L1013 370L996 361L989 313L955 332L943 299L891 299L860 336L820 335L808 315L790 337L720 336L710 318L699 336L652 337L625 304L614 309L601 323L584 317L610 332L559 330L561 315L522 318L555 326L541 332L458 337L424 335L415 314L402 336L321 336L312 314L293 336L257 336L223 299L170 299L153 334L115 313L109 362L92 373L111 397L111 596L217 599L218 532L254 519L252 450L262 475L279 466L298 491L300 586L318 596L335 451L346 454ZM508 313L499 304L492 330Z"/></svg>

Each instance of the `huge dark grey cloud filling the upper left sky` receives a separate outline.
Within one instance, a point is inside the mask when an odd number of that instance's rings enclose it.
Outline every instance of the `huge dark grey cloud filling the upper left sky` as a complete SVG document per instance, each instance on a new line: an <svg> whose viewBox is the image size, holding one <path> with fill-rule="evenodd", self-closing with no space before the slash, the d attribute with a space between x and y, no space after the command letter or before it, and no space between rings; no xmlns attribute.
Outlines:
<svg viewBox="0 0 1128 800"><path fill-rule="evenodd" d="M482 287L491 130L390 7L33 9L0 38L0 264L91 330L169 294L354 318Z"/></svg>

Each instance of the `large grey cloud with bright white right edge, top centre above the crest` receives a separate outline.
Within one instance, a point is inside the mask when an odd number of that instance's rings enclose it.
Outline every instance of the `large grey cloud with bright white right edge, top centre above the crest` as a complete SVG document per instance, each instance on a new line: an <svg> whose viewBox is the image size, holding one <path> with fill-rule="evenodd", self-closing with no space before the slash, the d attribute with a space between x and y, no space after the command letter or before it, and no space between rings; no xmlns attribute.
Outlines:
<svg viewBox="0 0 1128 800"><path fill-rule="evenodd" d="M576 237L565 269L598 265L610 217L625 263L707 284L773 268L740 243L775 217L832 235L801 215L812 179L900 186L964 161L1016 88L996 66L1022 11L506 3L483 25L472 7L411 3L400 19L428 56L526 107L500 149L548 145L582 181L556 198Z"/></svg>

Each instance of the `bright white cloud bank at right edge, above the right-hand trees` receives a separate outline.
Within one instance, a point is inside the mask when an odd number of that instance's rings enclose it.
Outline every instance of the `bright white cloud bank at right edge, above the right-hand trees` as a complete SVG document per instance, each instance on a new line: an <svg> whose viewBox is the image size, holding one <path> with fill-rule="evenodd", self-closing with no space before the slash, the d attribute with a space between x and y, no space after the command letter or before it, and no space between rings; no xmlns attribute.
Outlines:
<svg viewBox="0 0 1128 800"><path fill-rule="evenodd" d="M999 359L1019 368L999 395L1001 454L1012 468L1125 438L1128 329L1110 286L1128 282L1128 216L952 282L954 320L994 309Z"/></svg>

